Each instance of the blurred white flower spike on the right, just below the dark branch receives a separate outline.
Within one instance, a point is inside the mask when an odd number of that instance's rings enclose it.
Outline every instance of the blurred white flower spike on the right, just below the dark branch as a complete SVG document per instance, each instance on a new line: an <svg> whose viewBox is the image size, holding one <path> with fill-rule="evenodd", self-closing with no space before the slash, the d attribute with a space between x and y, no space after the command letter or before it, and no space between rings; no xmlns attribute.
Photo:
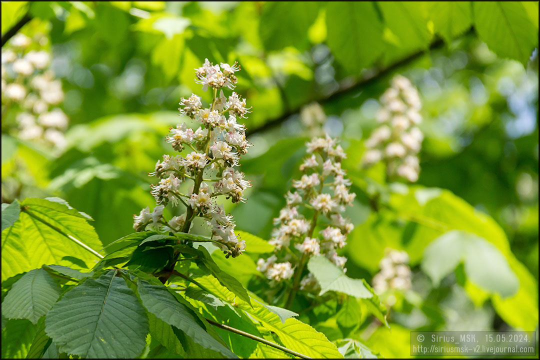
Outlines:
<svg viewBox="0 0 540 360"><path fill-rule="evenodd" d="M363 162L369 166L383 160L388 175L415 182L420 172L418 153L424 139L417 127L422 122L418 91L409 79L397 75L392 79L392 86L382 94L381 104L376 114L381 126L366 140L368 150Z"/></svg>

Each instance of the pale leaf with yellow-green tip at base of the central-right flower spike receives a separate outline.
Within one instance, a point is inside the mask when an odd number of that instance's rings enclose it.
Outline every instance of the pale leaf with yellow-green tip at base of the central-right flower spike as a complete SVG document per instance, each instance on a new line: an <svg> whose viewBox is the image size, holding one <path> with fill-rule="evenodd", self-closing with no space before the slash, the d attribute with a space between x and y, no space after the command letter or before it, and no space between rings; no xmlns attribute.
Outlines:
<svg viewBox="0 0 540 360"><path fill-rule="evenodd" d="M333 290L358 298L370 313L388 326L386 308L379 301L373 289L363 279L351 279L335 266L325 256L313 256L309 259L307 268L315 276L321 286L320 295Z"/></svg>

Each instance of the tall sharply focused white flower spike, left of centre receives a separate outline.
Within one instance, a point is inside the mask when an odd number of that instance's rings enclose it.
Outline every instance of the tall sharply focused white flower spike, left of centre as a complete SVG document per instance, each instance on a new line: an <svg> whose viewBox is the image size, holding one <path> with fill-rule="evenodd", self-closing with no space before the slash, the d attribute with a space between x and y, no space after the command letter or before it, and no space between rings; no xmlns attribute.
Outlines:
<svg viewBox="0 0 540 360"><path fill-rule="evenodd" d="M234 73L240 67L236 63L233 66L220 65L221 68L206 59L203 66L195 69L196 81L203 84L203 90L210 87L214 92L212 104L204 108L201 98L195 94L180 99L180 114L201 126L197 130L186 124L171 128L166 141L174 150L187 150L187 153L173 157L163 155L163 161L158 160L154 172L150 174L159 179L158 184L152 185L151 191L158 206L153 212L146 207L134 216L133 228L141 231L147 225L158 229L163 225L165 227L161 230L188 233L195 216L200 216L212 227L212 240L224 250L226 257L236 257L245 249L246 243L234 233L232 216L227 215L215 200L223 195L232 202L245 202L244 191L251 187L250 182L244 179L244 173L234 168L238 166L241 155L246 154L247 148L252 146L246 140L245 126L237 123L239 119L246 118L251 107L246 107L246 100L240 99L235 92L228 98L224 96L220 89L234 88L237 83ZM187 194L181 193L180 188L185 181L193 181ZM172 206L183 203L186 213L166 222L163 220L163 209L169 202Z"/></svg>

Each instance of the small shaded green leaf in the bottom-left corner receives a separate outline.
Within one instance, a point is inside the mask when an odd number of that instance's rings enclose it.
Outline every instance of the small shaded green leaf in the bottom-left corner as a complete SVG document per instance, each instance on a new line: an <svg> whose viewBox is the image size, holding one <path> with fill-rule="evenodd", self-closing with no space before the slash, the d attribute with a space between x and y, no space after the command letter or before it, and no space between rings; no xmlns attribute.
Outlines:
<svg viewBox="0 0 540 360"><path fill-rule="evenodd" d="M9 320L2 329L2 358L24 358L36 335L36 326L26 319Z"/></svg>

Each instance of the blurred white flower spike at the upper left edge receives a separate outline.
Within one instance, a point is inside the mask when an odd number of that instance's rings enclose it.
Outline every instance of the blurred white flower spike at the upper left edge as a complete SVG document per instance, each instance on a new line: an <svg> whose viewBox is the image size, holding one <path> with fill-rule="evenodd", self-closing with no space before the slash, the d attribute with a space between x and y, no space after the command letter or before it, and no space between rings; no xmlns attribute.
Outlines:
<svg viewBox="0 0 540 360"><path fill-rule="evenodd" d="M42 142L62 151L69 119L58 106L64 101L62 82L49 69L51 55L22 33L2 51L2 113L18 105L17 136ZM20 110L19 110L20 109Z"/></svg>

